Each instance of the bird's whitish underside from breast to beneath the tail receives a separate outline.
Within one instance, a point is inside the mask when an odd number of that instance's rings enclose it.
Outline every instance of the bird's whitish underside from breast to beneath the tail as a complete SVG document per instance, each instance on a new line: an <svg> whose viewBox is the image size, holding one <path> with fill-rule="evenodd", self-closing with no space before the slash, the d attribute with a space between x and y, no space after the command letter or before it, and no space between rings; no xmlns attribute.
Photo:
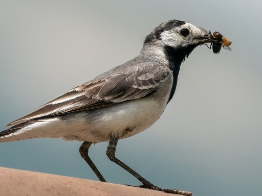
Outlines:
<svg viewBox="0 0 262 196"><path fill-rule="evenodd" d="M130 137L154 124L164 112L166 102L167 97L161 97L161 100L146 97L105 108L40 119L0 138L0 142L37 137L102 142L108 141L111 135Z"/></svg>

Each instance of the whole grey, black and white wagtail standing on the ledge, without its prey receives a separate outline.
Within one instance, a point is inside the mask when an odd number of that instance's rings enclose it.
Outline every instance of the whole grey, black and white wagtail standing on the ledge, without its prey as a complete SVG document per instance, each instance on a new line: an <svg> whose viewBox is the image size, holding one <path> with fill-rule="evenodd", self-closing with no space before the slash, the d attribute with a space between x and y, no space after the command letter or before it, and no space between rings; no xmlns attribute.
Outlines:
<svg viewBox="0 0 262 196"><path fill-rule="evenodd" d="M109 141L107 157L142 182L139 187L191 195L152 185L117 159L115 152L119 139L140 133L159 119L176 90L180 65L193 49L216 42L188 22L163 22L145 37L137 57L10 122L11 128L0 133L0 142L38 137L83 141L80 155L106 182L88 151L92 143Z"/></svg>

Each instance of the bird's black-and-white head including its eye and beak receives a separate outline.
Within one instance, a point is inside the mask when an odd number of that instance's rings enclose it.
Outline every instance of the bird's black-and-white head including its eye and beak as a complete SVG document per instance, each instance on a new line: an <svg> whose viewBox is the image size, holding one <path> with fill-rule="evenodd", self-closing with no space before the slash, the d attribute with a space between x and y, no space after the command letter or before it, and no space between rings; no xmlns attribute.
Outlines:
<svg viewBox="0 0 262 196"><path fill-rule="evenodd" d="M212 43L215 40L210 33L192 24L169 20L156 27L144 41L143 51L162 51L164 54L175 55L177 60L185 60L186 57L198 45Z"/></svg>

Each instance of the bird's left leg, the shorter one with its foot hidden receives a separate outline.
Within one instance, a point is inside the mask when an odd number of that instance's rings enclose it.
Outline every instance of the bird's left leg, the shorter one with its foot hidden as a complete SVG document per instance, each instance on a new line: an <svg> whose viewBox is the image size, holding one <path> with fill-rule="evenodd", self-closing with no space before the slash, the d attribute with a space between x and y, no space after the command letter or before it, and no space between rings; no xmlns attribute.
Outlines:
<svg viewBox="0 0 262 196"><path fill-rule="evenodd" d="M94 171L96 176L99 178L101 182L106 182L100 171L97 169L96 165L93 163L93 161L90 159L88 155L89 148L91 146L92 142L84 141L82 145L79 148L79 153L81 157L85 160L86 163L91 167L91 169Z"/></svg>

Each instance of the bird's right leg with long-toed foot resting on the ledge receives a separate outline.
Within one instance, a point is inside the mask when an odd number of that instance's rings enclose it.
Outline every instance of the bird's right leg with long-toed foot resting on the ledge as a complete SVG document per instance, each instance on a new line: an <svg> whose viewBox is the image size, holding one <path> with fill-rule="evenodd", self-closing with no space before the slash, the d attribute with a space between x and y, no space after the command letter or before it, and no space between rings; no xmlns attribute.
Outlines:
<svg viewBox="0 0 262 196"><path fill-rule="evenodd" d="M174 193L174 194L182 194L182 195L187 195L187 196L192 195L192 192L186 192L186 191L181 191L181 190L176 190L176 189L159 188L159 187L151 184L149 181L147 181L142 176L140 176L138 173L136 173L136 171L134 171L132 168L128 167L125 163L123 163L118 158L116 158L117 142L118 142L118 137L111 136L110 141L109 141L108 146L107 146L106 155L111 161L120 165L122 168L124 168L126 171L128 171L130 174L132 174L134 177L136 177L140 182L142 182L143 185L137 186L137 187L148 188L148 189L152 189L152 190L159 190L159 191Z"/></svg>

